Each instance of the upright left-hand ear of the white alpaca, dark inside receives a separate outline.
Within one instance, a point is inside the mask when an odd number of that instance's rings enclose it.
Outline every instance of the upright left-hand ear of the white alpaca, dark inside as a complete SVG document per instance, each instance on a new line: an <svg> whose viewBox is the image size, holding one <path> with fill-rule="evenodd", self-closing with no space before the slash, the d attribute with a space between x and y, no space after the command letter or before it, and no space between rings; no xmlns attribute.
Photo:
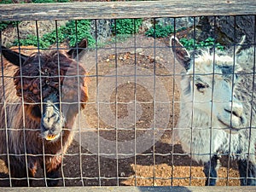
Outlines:
<svg viewBox="0 0 256 192"><path fill-rule="evenodd" d="M172 36L170 39L170 46L172 46L172 52L175 55L177 61L183 65L183 67L188 71L190 68L190 55L187 49L178 41L177 38Z"/></svg>

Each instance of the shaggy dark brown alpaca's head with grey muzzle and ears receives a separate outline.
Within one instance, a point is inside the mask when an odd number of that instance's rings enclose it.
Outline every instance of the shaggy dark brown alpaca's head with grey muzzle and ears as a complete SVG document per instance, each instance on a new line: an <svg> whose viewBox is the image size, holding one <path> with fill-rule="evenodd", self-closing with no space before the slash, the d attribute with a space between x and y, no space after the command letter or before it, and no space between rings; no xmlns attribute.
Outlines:
<svg viewBox="0 0 256 192"><path fill-rule="evenodd" d="M83 40L78 47L85 48L86 44ZM63 130L72 127L88 100L84 67L73 58L81 50L27 56L2 46L4 58L17 66L14 89L24 101L26 118L40 124L40 137L48 141L57 141Z"/></svg>

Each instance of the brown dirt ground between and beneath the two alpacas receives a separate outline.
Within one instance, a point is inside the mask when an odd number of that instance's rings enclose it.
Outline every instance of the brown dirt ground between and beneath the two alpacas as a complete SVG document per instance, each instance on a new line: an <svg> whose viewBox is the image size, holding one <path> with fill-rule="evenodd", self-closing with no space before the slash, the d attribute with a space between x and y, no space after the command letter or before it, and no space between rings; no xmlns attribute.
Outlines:
<svg viewBox="0 0 256 192"><path fill-rule="evenodd" d="M165 41L129 38L84 53L82 62L90 75L90 102L59 186L203 186L202 165L183 154L172 134L180 96L180 77L173 77L182 69ZM222 161L218 185L239 185L236 162ZM7 173L0 161L0 178ZM42 170L32 186L44 186Z"/></svg>

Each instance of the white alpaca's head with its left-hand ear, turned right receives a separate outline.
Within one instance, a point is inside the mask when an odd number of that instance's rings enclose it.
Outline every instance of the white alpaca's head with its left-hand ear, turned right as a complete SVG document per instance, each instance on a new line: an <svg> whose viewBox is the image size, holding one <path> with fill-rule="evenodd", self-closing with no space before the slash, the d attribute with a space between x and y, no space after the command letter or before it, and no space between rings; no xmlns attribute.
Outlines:
<svg viewBox="0 0 256 192"><path fill-rule="evenodd" d="M177 61L186 70L181 80L182 102L191 114L193 111L193 119L203 119L207 125L228 132L239 131L246 118L241 102L233 96L238 80L236 72L240 70L233 57L211 55L203 50L190 56L177 38L171 38L170 44Z"/></svg>

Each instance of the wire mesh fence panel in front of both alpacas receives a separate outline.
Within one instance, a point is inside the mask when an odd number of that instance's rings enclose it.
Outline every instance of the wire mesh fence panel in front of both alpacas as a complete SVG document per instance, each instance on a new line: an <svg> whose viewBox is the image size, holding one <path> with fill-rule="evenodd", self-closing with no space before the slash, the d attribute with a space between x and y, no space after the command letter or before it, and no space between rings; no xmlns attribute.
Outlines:
<svg viewBox="0 0 256 192"><path fill-rule="evenodd" d="M1 48L0 186L255 183L255 16L247 44L236 18L224 45L217 16L205 41L205 17L90 20L92 36L88 20L49 36L29 21L34 46L18 23L17 46Z"/></svg>

